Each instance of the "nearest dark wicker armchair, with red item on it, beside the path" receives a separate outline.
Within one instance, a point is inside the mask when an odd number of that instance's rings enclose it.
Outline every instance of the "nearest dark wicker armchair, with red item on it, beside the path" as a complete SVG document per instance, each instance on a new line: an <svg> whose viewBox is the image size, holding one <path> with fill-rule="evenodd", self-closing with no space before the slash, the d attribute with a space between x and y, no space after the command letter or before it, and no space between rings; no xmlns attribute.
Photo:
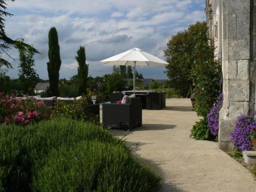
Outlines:
<svg viewBox="0 0 256 192"><path fill-rule="evenodd" d="M142 106L140 97L131 98L129 104L103 103L103 127L131 130L142 125Z"/></svg>

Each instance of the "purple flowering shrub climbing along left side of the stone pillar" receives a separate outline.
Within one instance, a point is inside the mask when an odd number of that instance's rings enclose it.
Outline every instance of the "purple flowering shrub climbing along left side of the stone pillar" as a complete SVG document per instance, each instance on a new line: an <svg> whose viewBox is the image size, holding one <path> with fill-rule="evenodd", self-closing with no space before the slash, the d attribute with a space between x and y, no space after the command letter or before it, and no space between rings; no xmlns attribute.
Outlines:
<svg viewBox="0 0 256 192"><path fill-rule="evenodd" d="M218 136L219 132L219 113L223 104L223 94L219 95L218 102L212 106L210 112L207 115L207 122L210 133L214 136Z"/></svg>

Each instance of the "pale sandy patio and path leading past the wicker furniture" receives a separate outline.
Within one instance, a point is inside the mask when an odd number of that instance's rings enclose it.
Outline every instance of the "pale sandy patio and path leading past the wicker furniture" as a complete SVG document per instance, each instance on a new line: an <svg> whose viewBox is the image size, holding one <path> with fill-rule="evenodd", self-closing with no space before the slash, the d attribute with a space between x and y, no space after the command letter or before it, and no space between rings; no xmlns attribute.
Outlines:
<svg viewBox="0 0 256 192"><path fill-rule="evenodd" d="M134 154L162 176L161 191L256 191L251 173L217 142L189 138L197 120L190 99L166 99L163 110L142 111L142 127L111 132L127 134Z"/></svg>

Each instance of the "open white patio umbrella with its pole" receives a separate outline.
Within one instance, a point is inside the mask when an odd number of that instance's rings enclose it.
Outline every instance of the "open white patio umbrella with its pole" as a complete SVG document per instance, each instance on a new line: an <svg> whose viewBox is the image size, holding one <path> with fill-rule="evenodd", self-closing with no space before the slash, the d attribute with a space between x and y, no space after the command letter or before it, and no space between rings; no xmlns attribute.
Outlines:
<svg viewBox="0 0 256 192"><path fill-rule="evenodd" d="M113 57L101 60L104 64L117 66L134 66L133 71L133 93L135 94L135 71L136 66L165 66L168 65L162 59L146 53L138 48L133 48Z"/></svg>

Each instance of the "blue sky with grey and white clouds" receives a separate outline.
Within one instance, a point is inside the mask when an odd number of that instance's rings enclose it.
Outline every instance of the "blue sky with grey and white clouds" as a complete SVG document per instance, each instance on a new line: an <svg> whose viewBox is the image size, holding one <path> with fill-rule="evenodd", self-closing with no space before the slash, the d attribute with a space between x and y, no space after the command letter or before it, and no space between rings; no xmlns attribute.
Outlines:
<svg viewBox="0 0 256 192"><path fill-rule="evenodd" d="M134 47L165 60L163 50L168 40L197 21L205 20L205 0L16 0L7 1L11 18L6 19L9 37L24 38L40 54L35 69L48 79L48 32L58 31L60 78L77 74L76 52L86 48L89 75L102 76L113 66L100 60ZM11 54L18 58L17 51ZM9 70L17 77L18 63ZM138 67L144 78L167 79L165 67Z"/></svg>

